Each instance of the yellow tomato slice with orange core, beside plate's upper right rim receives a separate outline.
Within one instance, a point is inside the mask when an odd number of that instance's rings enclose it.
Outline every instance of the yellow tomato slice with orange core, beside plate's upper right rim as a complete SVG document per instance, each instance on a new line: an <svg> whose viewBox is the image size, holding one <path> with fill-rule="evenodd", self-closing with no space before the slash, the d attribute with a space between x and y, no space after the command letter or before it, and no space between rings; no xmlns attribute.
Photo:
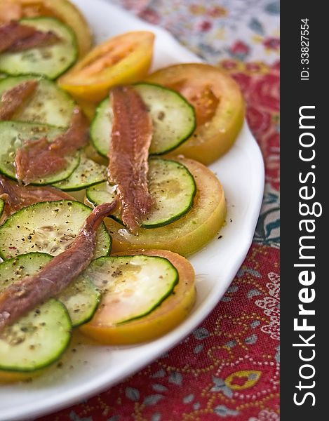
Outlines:
<svg viewBox="0 0 329 421"><path fill-rule="evenodd" d="M145 80L180 92L196 110L196 130L171 155L183 154L208 165L233 145L245 106L241 90L229 74L196 63L166 67Z"/></svg>

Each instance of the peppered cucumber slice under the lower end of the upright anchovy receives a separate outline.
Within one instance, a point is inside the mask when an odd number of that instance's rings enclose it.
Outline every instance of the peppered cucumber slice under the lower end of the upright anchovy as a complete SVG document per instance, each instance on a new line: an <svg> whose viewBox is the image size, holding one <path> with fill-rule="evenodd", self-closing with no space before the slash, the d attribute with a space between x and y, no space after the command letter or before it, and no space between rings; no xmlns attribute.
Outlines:
<svg viewBox="0 0 329 421"><path fill-rule="evenodd" d="M142 221L144 228L168 225L181 218L193 206L196 184L189 170L169 159L149 160L149 192L154 200L152 212ZM107 182L89 187L88 201L97 206L114 199L115 189ZM112 218L121 222L119 213Z"/></svg>

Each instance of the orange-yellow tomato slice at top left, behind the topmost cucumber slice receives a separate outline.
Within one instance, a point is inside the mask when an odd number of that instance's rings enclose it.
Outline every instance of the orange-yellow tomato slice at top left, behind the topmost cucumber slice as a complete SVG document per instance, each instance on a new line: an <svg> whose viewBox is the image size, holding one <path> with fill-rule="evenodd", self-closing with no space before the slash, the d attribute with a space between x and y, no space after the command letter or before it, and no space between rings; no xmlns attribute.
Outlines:
<svg viewBox="0 0 329 421"><path fill-rule="evenodd" d="M83 57L93 45L93 35L86 19L68 0L2 0L0 22L53 16L71 27L79 45L79 57Z"/></svg>

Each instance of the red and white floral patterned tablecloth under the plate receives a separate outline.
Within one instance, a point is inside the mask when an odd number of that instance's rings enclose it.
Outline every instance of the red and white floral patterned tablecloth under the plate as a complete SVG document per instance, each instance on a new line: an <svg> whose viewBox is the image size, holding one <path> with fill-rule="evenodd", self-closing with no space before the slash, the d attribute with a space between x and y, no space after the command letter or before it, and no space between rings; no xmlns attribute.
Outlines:
<svg viewBox="0 0 329 421"><path fill-rule="evenodd" d="M116 0L239 82L266 163L253 246L208 318L106 392L41 421L279 420L279 2Z"/></svg>

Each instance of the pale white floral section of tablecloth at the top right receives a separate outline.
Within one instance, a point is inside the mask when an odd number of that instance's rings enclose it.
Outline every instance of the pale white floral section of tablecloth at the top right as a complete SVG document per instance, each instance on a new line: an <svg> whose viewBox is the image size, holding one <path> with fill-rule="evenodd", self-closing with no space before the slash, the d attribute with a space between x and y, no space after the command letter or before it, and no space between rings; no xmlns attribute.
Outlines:
<svg viewBox="0 0 329 421"><path fill-rule="evenodd" d="M206 61L218 58L273 64L280 48L278 0L114 0L161 25Z"/></svg>

